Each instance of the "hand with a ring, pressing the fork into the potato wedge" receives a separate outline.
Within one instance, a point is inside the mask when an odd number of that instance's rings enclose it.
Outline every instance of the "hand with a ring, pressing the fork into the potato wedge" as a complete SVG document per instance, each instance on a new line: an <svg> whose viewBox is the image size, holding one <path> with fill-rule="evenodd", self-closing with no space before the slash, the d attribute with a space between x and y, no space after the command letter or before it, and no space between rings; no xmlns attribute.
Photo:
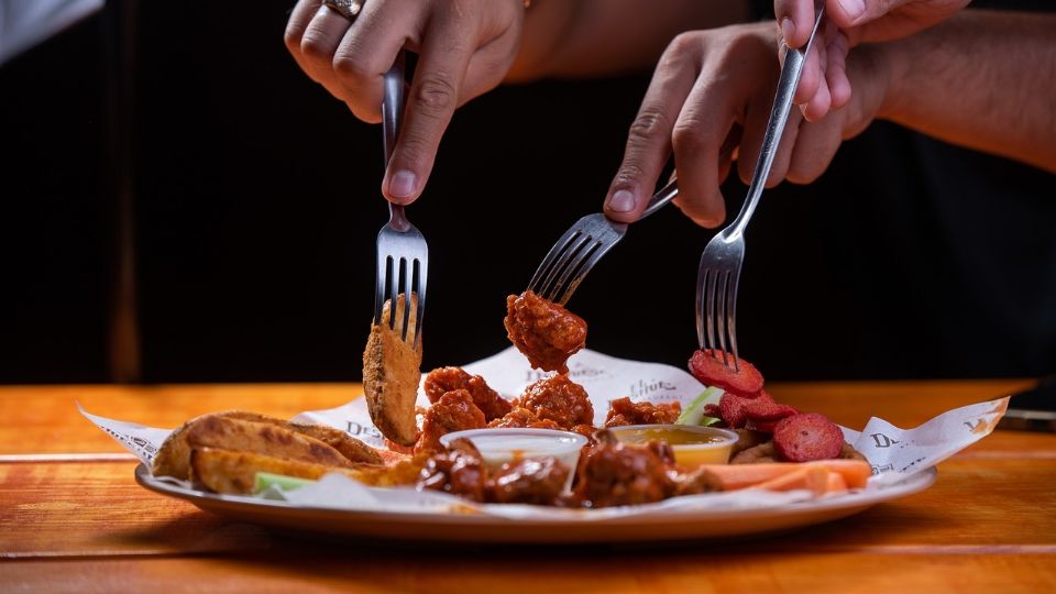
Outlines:
<svg viewBox="0 0 1056 594"><path fill-rule="evenodd" d="M299 0L286 47L356 118L382 121L383 79L407 48L419 54L403 128L382 193L410 204L429 178L457 107L502 82L520 45L522 0L367 0L354 22Z"/></svg>

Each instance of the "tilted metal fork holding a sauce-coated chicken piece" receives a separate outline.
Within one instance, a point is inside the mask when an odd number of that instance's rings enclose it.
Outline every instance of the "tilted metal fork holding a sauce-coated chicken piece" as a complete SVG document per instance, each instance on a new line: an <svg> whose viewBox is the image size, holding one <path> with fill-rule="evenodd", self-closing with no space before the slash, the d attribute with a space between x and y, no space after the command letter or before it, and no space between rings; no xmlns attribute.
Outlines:
<svg viewBox="0 0 1056 594"><path fill-rule="evenodd" d="M640 221L663 208L679 195L676 179L652 195ZM575 287L597 261L627 233L627 223L609 220L602 212L587 215L569 228L553 244L542 264L528 283L528 288L542 298L564 305Z"/></svg>

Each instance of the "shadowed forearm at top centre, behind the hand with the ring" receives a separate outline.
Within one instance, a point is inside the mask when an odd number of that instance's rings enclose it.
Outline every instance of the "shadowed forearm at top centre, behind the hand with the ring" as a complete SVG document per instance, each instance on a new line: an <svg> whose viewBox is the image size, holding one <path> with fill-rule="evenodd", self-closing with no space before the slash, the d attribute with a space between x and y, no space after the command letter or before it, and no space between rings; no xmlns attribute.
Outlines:
<svg viewBox="0 0 1056 594"><path fill-rule="evenodd" d="M507 81L648 69L679 33L748 14L743 0L534 0Z"/></svg>

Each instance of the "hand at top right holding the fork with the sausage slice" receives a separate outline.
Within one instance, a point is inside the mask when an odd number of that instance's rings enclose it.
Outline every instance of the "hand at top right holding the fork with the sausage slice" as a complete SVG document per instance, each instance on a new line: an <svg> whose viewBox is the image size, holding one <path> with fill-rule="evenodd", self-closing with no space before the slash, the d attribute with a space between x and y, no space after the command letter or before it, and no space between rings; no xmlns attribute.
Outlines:
<svg viewBox="0 0 1056 594"><path fill-rule="evenodd" d="M793 101L816 121L849 99L847 52L859 43L911 35L942 22L971 0L826 0L825 43L815 43ZM789 47L802 47L814 26L814 0L774 0L773 12ZM816 50L815 50L816 47Z"/></svg>

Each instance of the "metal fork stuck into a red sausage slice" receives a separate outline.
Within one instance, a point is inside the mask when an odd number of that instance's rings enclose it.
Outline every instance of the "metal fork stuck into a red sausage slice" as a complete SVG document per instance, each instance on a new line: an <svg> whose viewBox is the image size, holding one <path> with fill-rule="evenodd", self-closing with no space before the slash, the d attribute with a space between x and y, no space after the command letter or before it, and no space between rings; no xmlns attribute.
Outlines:
<svg viewBox="0 0 1056 594"><path fill-rule="evenodd" d="M737 354L737 285L740 282L740 266L745 260L745 228L751 219L762 196L762 188L773 157L781 143L784 125L792 109L792 97L795 87L800 84L803 74L803 64L810 53L814 36L817 34L825 3L815 0L814 30L802 48L785 47L784 65L781 67L781 78L773 98L773 108L770 111L770 121L762 139L762 148L756 162L756 170L748 187L748 197L740 212L729 226L718 232L704 248L701 254L701 265L696 276L696 340L701 349L717 349L723 353L723 364L729 367L727 358L727 338L729 352L733 354L734 369L740 371ZM716 340L717 339L717 340Z"/></svg>

